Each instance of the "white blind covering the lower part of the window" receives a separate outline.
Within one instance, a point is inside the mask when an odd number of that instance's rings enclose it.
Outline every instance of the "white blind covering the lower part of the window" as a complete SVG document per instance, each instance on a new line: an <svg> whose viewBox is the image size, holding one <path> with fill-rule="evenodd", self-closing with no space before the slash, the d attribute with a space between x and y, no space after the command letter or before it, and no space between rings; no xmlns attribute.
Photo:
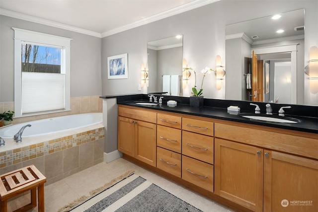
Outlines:
<svg viewBox="0 0 318 212"><path fill-rule="evenodd" d="M65 109L65 74L22 72L22 115Z"/></svg>

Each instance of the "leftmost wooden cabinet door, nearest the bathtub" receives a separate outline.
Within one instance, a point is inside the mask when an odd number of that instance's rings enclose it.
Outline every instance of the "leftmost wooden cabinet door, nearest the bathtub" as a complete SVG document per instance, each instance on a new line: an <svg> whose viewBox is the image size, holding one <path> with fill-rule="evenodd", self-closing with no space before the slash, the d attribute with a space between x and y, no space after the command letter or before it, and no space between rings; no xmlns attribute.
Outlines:
<svg viewBox="0 0 318 212"><path fill-rule="evenodd" d="M118 117L118 150L135 157L136 121Z"/></svg>

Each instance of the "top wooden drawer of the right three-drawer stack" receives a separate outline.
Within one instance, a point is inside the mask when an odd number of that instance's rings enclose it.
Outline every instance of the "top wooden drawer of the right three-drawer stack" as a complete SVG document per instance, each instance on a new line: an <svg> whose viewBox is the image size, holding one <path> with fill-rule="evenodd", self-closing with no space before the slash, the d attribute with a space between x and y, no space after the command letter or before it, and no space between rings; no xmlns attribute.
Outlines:
<svg viewBox="0 0 318 212"><path fill-rule="evenodd" d="M182 118L182 130L213 136L214 123L197 119Z"/></svg>

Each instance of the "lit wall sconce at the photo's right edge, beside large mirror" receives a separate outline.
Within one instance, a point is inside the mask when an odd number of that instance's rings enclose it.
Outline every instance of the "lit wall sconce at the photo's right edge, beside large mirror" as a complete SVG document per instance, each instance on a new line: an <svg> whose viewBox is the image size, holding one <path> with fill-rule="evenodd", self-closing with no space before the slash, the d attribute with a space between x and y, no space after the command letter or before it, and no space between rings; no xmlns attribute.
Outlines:
<svg viewBox="0 0 318 212"><path fill-rule="evenodd" d="M318 93L318 47L312 46L309 51L309 64L305 67L305 73L309 75L309 90Z"/></svg>

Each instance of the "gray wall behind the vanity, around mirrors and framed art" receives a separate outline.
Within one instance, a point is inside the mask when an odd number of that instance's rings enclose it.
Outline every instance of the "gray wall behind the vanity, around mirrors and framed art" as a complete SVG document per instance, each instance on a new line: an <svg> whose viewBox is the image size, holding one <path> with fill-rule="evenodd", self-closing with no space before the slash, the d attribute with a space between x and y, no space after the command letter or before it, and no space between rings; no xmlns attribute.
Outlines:
<svg viewBox="0 0 318 212"><path fill-rule="evenodd" d="M305 8L306 11L305 61L308 61L310 47L318 46L318 1L221 0L102 38L102 93L111 95L147 92L145 87L142 91L138 91L138 84L140 83L140 65L147 62L148 41L182 34L183 58L187 60L188 65L195 67L197 71L206 66L215 69L216 55L221 56L222 65L225 65L225 26L227 24L300 8ZM128 79L108 80L107 57L123 53L128 53L129 58ZM304 80L304 76L299 77L302 77L300 80ZM202 75L198 74L199 84L201 79ZM193 77L191 80L187 90L183 92L185 96L190 95L190 88L194 85ZM215 76L210 74L204 80L204 97L225 97L225 86L219 91L215 89Z"/></svg>

